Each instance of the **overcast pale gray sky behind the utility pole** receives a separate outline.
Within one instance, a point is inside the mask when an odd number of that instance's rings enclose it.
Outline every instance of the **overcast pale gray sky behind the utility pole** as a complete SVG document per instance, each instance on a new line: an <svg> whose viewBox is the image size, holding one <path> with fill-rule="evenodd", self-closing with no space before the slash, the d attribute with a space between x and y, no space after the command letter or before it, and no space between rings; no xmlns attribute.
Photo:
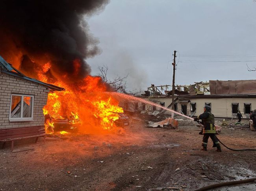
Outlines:
<svg viewBox="0 0 256 191"><path fill-rule="evenodd" d="M256 67L253 0L111 0L88 23L102 49L87 60L92 75L98 65L108 65L108 78L129 73L129 89L170 85L174 50L175 84L256 79L246 66Z"/></svg>

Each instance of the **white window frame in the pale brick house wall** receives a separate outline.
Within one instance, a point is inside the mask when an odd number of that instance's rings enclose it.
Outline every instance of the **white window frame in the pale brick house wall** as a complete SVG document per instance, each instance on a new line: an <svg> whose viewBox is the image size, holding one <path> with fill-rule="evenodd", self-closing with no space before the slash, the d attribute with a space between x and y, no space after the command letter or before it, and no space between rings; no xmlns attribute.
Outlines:
<svg viewBox="0 0 256 191"><path fill-rule="evenodd" d="M33 110L34 110L34 96L33 95L23 95L23 94L11 94L11 102L13 96L21 96L21 107L20 107L20 117L11 118L11 103L10 103L10 112L9 112L9 121L17 122L17 121L33 121ZM23 117L23 102L24 97L32 97L32 113L31 117Z"/></svg>

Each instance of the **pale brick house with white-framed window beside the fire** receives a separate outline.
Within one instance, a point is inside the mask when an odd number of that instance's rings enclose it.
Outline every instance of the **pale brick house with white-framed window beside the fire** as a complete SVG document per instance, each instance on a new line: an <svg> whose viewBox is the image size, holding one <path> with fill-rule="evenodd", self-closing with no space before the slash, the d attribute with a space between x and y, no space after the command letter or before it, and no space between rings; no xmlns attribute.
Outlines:
<svg viewBox="0 0 256 191"><path fill-rule="evenodd" d="M48 93L62 90L23 75L0 56L0 129L44 126Z"/></svg>

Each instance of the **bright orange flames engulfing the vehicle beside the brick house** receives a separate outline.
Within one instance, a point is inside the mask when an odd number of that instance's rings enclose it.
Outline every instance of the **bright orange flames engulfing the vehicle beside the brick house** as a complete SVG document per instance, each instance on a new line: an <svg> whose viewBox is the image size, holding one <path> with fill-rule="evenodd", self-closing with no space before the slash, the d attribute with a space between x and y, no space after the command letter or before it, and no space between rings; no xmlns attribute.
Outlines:
<svg viewBox="0 0 256 191"><path fill-rule="evenodd" d="M73 64L74 73L78 73L81 66L79 60L74 60ZM50 63L46 63L43 68L45 69L39 72L39 80L47 82L45 72L50 69ZM65 91L48 93L47 104L43 108L44 115L53 120L68 119L66 123L71 127L72 124L80 124L79 131L82 133L100 133L116 127L114 121L119 118L118 113L122 113L123 109L118 106L118 100L105 93L107 87L100 77L86 76L72 85L58 79L52 84L65 88ZM47 133L52 133L54 122L46 120L45 128L50 129Z"/></svg>

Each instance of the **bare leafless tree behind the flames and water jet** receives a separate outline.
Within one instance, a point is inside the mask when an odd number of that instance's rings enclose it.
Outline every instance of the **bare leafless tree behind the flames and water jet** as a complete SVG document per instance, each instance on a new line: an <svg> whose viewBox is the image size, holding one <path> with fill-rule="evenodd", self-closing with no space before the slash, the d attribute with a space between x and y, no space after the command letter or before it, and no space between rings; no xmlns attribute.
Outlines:
<svg viewBox="0 0 256 191"><path fill-rule="evenodd" d="M109 80L107 77L107 74L108 74L108 66L107 65L98 66L98 70L99 70L98 75L102 78L102 80L104 82L110 84L115 91L133 95L133 96L139 96L141 94L141 89L132 90L132 91L127 90L126 79L128 78L129 74L127 74L124 77L116 75L113 79Z"/></svg>

